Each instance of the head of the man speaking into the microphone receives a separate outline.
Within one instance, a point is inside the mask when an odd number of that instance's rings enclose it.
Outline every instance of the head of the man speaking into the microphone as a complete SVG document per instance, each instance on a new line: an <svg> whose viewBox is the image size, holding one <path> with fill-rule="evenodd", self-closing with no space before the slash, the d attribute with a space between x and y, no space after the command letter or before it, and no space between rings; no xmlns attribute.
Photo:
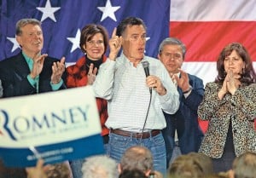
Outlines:
<svg viewBox="0 0 256 178"><path fill-rule="evenodd" d="M146 46L146 26L137 17L127 17L117 26L116 35L122 37L124 55L131 60L143 60Z"/></svg>

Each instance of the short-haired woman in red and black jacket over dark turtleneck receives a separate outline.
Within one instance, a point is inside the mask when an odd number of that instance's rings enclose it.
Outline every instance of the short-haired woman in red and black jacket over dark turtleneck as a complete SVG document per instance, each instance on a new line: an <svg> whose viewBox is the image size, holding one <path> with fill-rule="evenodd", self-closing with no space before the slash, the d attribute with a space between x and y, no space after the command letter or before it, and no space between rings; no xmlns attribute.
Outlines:
<svg viewBox="0 0 256 178"><path fill-rule="evenodd" d="M84 52L76 64L67 67L67 88L81 87L95 81L99 66L107 59L104 55L108 48L108 32L100 25L84 26L80 37L80 49ZM96 104L102 124L102 138L105 148L108 144L108 128L105 122L108 118L107 100L96 98ZM81 167L84 160L71 163L73 177L82 177Z"/></svg>

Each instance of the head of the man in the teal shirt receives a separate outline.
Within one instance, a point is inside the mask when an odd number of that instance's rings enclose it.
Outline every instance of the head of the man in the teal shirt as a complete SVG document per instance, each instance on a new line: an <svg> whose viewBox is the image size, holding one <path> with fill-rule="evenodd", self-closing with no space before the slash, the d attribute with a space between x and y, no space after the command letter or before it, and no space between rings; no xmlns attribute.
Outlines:
<svg viewBox="0 0 256 178"><path fill-rule="evenodd" d="M16 23L16 40L22 52L34 58L41 55L44 46L44 36L41 22L36 19L22 19Z"/></svg>

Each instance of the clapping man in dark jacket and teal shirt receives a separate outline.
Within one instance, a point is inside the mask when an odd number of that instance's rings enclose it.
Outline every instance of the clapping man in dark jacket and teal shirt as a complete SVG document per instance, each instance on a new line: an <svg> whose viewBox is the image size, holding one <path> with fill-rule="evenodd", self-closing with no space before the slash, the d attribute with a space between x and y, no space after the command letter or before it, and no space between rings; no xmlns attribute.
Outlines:
<svg viewBox="0 0 256 178"><path fill-rule="evenodd" d="M65 58L41 55L44 37L40 21L19 20L16 40L22 49L20 53L0 62L3 97L66 89Z"/></svg>

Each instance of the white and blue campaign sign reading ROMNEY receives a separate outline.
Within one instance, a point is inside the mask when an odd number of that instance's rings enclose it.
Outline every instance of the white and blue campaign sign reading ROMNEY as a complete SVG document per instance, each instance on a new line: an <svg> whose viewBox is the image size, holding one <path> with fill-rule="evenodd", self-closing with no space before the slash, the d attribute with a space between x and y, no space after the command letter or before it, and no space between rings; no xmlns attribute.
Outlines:
<svg viewBox="0 0 256 178"><path fill-rule="evenodd" d="M102 154L101 131L91 87L0 100L0 157L6 166Z"/></svg>

